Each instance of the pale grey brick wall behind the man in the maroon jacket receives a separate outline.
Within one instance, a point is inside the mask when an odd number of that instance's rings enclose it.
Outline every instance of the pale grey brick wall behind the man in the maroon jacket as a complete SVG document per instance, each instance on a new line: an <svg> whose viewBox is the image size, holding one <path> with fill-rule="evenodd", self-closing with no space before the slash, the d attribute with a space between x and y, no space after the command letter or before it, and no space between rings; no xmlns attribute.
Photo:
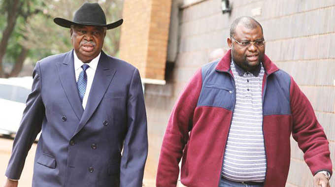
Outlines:
<svg viewBox="0 0 335 187"><path fill-rule="evenodd" d="M186 0L184 0L186 2ZM291 74L311 101L330 141L335 161L335 1L334 0L231 0L231 15L222 14L221 0L204 0L179 12L178 56L167 85L145 85L149 156L146 172L155 175L159 151L173 104L208 54L227 46L235 18L254 16L263 26L266 54ZM312 175L302 151L292 140L291 167L286 187L311 187ZM335 165L335 164L334 164ZM334 167L333 167L334 172ZM331 180L335 185L335 177Z"/></svg>

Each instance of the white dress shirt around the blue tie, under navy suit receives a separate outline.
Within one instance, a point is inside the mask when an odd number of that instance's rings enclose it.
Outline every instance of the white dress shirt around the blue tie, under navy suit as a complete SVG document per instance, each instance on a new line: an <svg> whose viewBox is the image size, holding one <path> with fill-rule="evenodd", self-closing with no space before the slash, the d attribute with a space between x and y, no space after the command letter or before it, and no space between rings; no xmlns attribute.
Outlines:
<svg viewBox="0 0 335 187"><path fill-rule="evenodd" d="M82 103L84 110L85 110L85 107L86 107L88 96L90 94L90 90L91 90L91 87L92 87L94 75L95 75L96 70L97 70L98 62L99 62L99 59L100 59L100 54L101 54L101 52L90 63L86 63L90 67L86 69L87 86L86 86L86 91L85 91L84 98L83 98L83 103ZM78 77L79 77L79 73L83 70L83 68L81 68L81 66L85 63L81 62L78 59L77 54L75 54L74 51L73 51L73 60L74 60L75 82L77 82Z"/></svg>

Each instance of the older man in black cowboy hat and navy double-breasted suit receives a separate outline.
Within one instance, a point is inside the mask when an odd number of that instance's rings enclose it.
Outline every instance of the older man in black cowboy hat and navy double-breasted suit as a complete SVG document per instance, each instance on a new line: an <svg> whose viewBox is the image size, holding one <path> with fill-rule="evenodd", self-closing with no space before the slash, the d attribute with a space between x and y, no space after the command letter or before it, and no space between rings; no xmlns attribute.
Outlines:
<svg viewBox="0 0 335 187"><path fill-rule="evenodd" d="M101 51L106 24L98 3L84 3L70 28L73 50L36 63L5 187L18 186L39 131L33 187L141 187L147 122L138 70ZM26 184L25 184L26 185Z"/></svg>

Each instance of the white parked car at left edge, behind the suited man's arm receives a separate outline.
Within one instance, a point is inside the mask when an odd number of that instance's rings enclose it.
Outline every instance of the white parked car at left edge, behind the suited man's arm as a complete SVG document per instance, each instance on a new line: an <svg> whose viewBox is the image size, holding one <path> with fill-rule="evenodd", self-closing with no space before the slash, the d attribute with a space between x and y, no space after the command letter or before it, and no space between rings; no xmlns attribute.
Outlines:
<svg viewBox="0 0 335 187"><path fill-rule="evenodd" d="M15 136L32 84L32 77L0 78L0 134Z"/></svg>

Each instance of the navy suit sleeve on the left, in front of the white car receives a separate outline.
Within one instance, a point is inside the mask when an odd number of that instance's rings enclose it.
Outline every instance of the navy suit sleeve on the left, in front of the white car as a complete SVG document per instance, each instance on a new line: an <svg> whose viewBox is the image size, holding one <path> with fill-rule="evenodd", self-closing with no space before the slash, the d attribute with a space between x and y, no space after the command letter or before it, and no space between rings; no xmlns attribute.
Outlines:
<svg viewBox="0 0 335 187"><path fill-rule="evenodd" d="M39 62L37 62L33 70L32 93L28 96L26 108L14 139L12 154L5 173L9 179L20 179L26 156L41 130L44 116L45 108L41 99L41 75Z"/></svg>

